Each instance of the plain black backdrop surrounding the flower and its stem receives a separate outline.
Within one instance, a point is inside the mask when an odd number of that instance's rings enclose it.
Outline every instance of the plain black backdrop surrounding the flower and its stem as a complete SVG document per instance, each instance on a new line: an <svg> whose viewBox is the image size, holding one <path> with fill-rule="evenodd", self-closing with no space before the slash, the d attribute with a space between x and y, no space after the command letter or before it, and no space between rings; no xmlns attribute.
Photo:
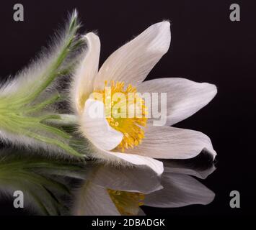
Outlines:
<svg viewBox="0 0 256 230"><path fill-rule="evenodd" d="M14 22L13 6L25 7L25 22ZM241 7L241 22L229 20L229 6ZM211 137L218 152L217 170L203 183L216 193L208 206L146 208L148 214L253 214L255 189L255 1L1 1L0 77L14 75L47 45L67 12L76 8L82 32L97 30L101 63L116 48L149 25L169 19L172 42L167 55L147 79L182 77L216 84L219 92L204 109L175 126ZM1 169L0 169L1 170ZM229 193L238 190L241 208L230 208ZM0 214L20 214L5 201Z"/></svg>

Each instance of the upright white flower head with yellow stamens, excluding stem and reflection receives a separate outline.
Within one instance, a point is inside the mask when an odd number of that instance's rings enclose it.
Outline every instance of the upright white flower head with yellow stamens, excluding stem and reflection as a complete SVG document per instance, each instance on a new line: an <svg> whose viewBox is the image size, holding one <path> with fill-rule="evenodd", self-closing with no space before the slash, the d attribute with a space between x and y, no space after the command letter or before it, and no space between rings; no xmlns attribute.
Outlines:
<svg viewBox="0 0 256 230"><path fill-rule="evenodd" d="M154 158L187 159L195 157L202 150L215 157L211 140L205 134L169 125L186 119L206 106L216 95L216 86L184 78L144 81L169 49L169 22L151 25L113 52L100 70L99 37L89 32L85 39L87 52L74 76L71 100L79 116L80 131L92 143L92 150L89 151L92 157L118 164L147 165L158 174L163 172L163 165ZM93 92L104 92L106 81L112 83L113 91L121 93L136 90L140 93L167 93L167 124L153 126L152 119L123 119L120 124L115 119L90 116L89 109L95 105L104 111L105 103L89 96Z"/></svg>

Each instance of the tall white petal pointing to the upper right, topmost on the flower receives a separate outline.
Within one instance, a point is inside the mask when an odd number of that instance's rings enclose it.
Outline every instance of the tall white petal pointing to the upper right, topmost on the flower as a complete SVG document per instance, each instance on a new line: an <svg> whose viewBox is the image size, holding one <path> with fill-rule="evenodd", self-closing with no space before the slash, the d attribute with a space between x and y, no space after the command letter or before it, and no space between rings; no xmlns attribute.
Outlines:
<svg viewBox="0 0 256 230"><path fill-rule="evenodd" d="M94 87L103 88L105 80L137 86L167 52L170 40L169 22L151 25L107 58L95 78Z"/></svg>

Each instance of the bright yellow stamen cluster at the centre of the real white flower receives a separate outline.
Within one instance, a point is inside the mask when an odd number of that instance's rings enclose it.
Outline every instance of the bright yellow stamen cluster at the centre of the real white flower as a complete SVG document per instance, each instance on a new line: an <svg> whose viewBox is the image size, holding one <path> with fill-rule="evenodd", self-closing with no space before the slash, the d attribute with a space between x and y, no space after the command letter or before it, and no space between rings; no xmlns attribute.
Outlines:
<svg viewBox="0 0 256 230"><path fill-rule="evenodd" d="M98 93L102 96L101 100L105 103L105 115L110 126L123 133L123 140L118 148L133 148L141 143L144 138L146 126L147 108L145 101L141 98L136 88L129 84L124 88L124 82L111 82L107 86L105 81L104 90L94 90L94 98L97 99Z"/></svg>

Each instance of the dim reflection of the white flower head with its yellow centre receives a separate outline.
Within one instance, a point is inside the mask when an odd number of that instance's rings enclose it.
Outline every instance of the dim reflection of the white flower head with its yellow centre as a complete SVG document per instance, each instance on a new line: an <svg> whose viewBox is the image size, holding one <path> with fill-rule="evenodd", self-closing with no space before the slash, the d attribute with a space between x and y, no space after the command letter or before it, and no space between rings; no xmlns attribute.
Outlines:
<svg viewBox="0 0 256 230"><path fill-rule="evenodd" d="M149 168L98 166L76 192L74 215L140 215L140 206L175 208L211 203L214 193L190 175L206 178L204 171L164 167L159 178ZM161 184L160 184L161 183Z"/></svg>

